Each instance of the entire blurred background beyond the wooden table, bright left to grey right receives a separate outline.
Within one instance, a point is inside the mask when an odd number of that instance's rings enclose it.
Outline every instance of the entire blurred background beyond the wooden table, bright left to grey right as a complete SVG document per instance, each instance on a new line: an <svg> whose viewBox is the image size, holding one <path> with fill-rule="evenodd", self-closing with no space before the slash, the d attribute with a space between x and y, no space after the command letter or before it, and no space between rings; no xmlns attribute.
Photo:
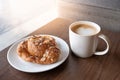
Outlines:
<svg viewBox="0 0 120 80"><path fill-rule="evenodd" d="M55 8L59 17L104 23L108 26L102 27L120 31L120 0L0 0L0 34Z"/></svg>

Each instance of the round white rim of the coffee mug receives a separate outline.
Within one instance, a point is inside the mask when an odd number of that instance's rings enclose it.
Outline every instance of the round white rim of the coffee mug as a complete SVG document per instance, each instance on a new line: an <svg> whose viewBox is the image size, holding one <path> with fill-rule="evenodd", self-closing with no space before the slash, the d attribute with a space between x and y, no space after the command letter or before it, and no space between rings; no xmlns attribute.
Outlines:
<svg viewBox="0 0 120 80"><path fill-rule="evenodd" d="M80 34L77 34L77 33L75 33L75 32L72 30L72 27L74 27L75 25L78 25L78 24L88 24L88 25L91 25L91 26L94 25L93 27L96 28L97 31L96 31L95 34L91 34L91 35L80 35ZM70 30L71 32L73 32L74 34L79 35L79 36L94 36L94 35L97 35L98 33L100 33L101 27L100 27L97 23L92 22L92 21L75 21L75 22L73 22L72 24L70 24L69 30Z"/></svg>

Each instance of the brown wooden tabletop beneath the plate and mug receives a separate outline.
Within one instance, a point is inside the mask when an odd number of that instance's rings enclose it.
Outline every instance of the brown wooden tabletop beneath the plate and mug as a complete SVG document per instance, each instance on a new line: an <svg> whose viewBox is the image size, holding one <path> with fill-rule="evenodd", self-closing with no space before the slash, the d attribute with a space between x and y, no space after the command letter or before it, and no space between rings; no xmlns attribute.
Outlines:
<svg viewBox="0 0 120 80"><path fill-rule="evenodd" d="M51 34L61 37L69 44L68 26L70 20L57 18L34 34ZM106 25L107 26L107 25ZM60 66L42 73L24 73L11 67L7 61L6 48L0 52L0 80L120 80L120 33L102 30L111 40L111 49L104 56L78 58L70 50L68 59ZM105 43L100 41L98 50Z"/></svg>

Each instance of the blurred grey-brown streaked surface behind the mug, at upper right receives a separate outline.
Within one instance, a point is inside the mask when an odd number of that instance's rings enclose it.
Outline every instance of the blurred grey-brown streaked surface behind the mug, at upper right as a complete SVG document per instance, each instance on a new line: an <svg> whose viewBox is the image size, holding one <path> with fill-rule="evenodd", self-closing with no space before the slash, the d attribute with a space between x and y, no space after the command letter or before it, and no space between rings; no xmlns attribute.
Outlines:
<svg viewBox="0 0 120 80"><path fill-rule="evenodd" d="M90 20L103 29L120 32L120 0L58 0L58 5L60 17Z"/></svg>

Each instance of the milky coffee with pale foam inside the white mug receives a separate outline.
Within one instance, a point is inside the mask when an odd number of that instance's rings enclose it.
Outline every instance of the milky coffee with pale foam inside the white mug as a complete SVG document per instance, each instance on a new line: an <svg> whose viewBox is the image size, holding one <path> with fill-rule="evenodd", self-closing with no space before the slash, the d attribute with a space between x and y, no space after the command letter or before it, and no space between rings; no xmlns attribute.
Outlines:
<svg viewBox="0 0 120 80"><path fill-rule="evenodd" d="M97 33L97 29L86 24L78 24L72 27L72 31L79 35L93 35Z"/></svg>

